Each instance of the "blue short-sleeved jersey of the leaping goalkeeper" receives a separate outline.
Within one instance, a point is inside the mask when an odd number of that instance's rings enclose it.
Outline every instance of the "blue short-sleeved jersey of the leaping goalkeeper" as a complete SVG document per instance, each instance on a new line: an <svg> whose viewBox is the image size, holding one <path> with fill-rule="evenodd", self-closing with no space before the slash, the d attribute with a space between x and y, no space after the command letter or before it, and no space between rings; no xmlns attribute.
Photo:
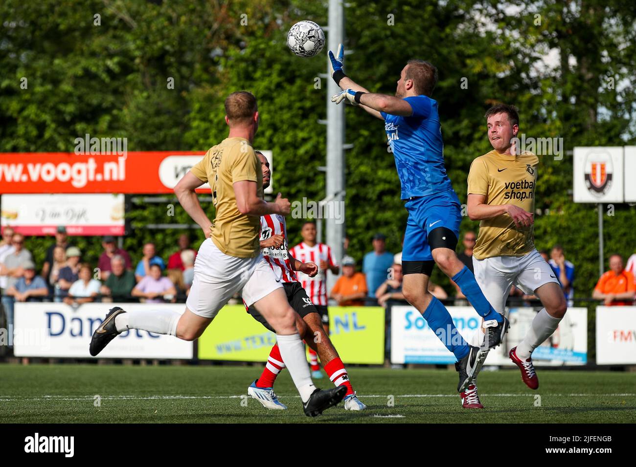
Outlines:
<svg viewBox="0 0 636 467"><path fill-rule="evenodd" d="M452 190L444 166L438 103L425 95L404 98L413 115L401 117L380 112L393 151L401 198L431 196Z"/></svg>

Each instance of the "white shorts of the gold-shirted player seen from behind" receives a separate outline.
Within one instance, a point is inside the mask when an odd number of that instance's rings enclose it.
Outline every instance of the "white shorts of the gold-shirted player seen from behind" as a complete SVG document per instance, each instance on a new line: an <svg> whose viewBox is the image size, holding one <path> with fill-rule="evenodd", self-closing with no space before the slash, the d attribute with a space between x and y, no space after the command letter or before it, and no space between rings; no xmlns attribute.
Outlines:
<svg viewBox="0 0 636 467"><path fill-rule="evenodd" d="M195 315L214 318L234 294L241 292L250 306L269 295L282 283L263 255L237 258L226 255L207 238L198 250L195 273L186 306Z"/></svg>

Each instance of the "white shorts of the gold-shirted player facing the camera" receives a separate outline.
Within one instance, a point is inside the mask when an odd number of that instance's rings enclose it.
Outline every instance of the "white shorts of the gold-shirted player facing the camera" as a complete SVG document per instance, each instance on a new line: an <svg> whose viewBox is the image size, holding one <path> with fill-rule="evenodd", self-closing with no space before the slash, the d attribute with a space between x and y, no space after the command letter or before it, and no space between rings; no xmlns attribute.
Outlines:
<svg viewBox="0 0 636 467"><path fill-rule="evenodd" d="M550 264L544 261L537 250L517 256L495 256L476 259L473 256L475 280L481 292L492 307L504 314L506 300L511 285L523 290L526 295L534 294L537 288L548 282L559 285Z"/></svg>

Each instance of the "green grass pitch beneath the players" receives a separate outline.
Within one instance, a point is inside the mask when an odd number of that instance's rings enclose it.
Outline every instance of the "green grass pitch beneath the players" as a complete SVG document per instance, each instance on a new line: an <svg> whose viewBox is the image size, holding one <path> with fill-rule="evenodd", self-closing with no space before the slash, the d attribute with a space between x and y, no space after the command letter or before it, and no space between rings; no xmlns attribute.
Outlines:
<svg viewBox="0 0 636 467"><path fill-rule="evenodd" d="M636 373L539 369L541 386L531 391L516 369L484 371L479 389L486 408L466 410L454 391L454 371L352 368L350 380L368 410L349 412L340 403L310 419L287 371L275 391L288 410L266 410L245 396L260 371L260 366L4 364L0 423L636 422ZM331 387L326 377L314 382Z"/></svg>

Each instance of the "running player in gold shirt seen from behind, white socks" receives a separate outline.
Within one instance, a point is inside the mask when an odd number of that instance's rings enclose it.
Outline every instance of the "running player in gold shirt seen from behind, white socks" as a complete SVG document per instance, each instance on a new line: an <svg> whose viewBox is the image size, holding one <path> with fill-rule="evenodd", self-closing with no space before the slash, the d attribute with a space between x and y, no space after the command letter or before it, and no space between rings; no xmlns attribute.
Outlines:
<svg viewBox="0 0 636 467"><path fill-rule="evenodd" d="M228 300L240 292L276 331L280 355L300 393L308 416L340 402L347 388L321 391L312 383L305 346L296 328L296 313L287 302L282 284L263 258L259 245L260 216L286 215L287 199L280 193L273 203L263 200L263 172L252 140L258 130L256 98L247 91L225 100L226 139L212 146L202 161L174 188L179 203L205 232L195 261L194 280L183 315L169 309L126 312L114 307L97 327L90 342L95 356L108 342L128 329L175 335L194 341ZM198 202L195 189L209 182L216 219L210 221Z"/></svg>

